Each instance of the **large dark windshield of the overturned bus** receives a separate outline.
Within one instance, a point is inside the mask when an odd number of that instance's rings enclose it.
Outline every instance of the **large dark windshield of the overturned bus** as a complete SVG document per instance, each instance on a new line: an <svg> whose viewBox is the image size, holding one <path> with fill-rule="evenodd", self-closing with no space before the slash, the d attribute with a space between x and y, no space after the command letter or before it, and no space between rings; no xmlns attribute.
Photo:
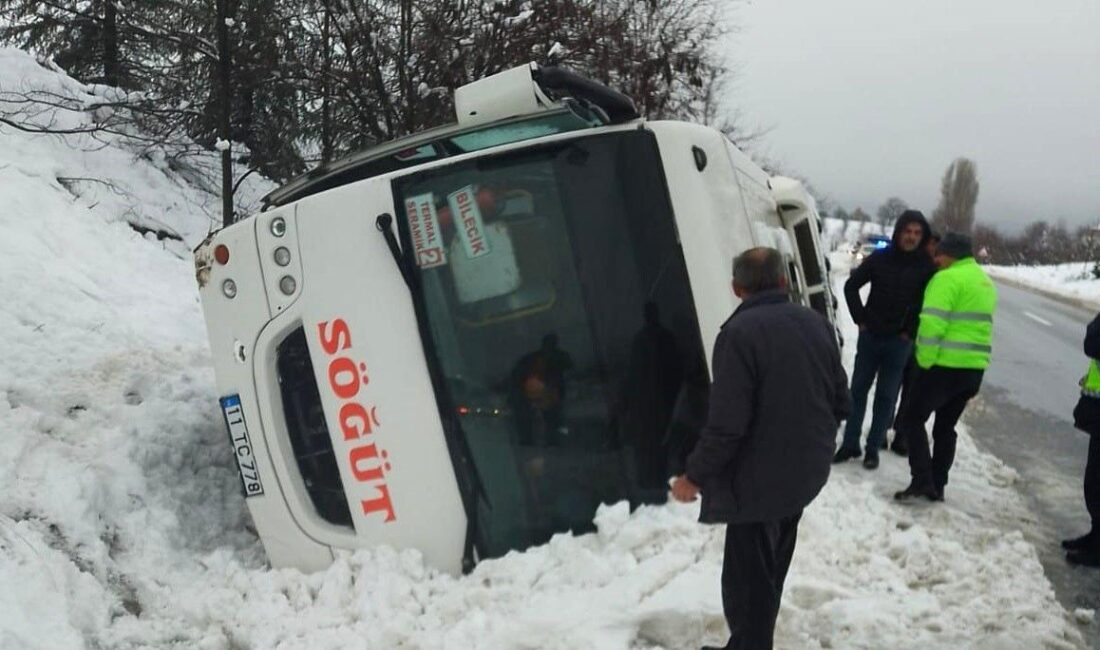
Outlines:
<svg viewBox="0 0 1100 650"><path fill-rule="evenodd" d="M394 194L440 408L486 493L482 555L663 500L707 373L653 135L487 155Z"/></svg>

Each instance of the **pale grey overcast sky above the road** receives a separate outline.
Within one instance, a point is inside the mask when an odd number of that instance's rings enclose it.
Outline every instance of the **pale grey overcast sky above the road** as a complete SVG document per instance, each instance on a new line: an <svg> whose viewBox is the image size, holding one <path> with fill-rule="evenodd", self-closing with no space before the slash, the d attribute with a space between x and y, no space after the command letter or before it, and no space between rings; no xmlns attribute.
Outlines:
<svg viewBox="0 0 1100 650"><path fill-rule="evenodd" d="M980 221L1100 221L1100 0L751 0L734 19L733 106L833 205L931 216L967 156Z"/></svg>

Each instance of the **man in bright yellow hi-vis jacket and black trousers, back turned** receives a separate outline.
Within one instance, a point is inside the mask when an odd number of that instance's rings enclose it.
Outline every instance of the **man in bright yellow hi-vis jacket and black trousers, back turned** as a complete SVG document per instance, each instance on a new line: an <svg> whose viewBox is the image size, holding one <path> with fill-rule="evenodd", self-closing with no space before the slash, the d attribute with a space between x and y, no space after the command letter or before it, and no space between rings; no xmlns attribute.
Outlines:
<svg viewBox="0 0 1100 650"><path fill-rule="evenodd" d="M993 350L997 288L975 261L970 238L945 235L936 264L941 271L928 283L921 306L912 401L898 427L909 442L912 475L909 487L894 495L898 500L943 500L955 460L955 425L978 394ZM933 412L935 452L930 453L924 425Z"/></svg>

